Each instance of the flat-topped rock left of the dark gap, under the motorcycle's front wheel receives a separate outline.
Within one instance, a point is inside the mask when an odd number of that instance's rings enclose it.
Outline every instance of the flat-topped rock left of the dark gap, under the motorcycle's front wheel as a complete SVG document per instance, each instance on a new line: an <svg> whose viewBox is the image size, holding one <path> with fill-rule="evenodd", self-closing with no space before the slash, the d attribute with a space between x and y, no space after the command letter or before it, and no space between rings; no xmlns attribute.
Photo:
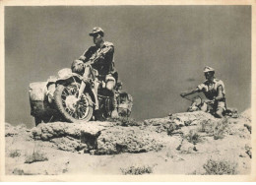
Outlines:
<svg viewBox="0 0 256 185"><path fill-rule="evenodd" d="M90 151L95 149L100 131L113 126L114 123L111 122L53 122L32 128L31 137L35 140L49 141L62 151L78 152L85 148Z"/></svg>

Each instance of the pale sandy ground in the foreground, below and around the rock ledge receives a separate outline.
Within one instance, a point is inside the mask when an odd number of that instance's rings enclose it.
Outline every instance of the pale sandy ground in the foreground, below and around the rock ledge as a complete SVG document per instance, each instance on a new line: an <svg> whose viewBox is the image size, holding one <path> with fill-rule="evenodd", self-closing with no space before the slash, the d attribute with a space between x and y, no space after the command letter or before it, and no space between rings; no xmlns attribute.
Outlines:
<svg viewBox="0 0 256 185"><path fill-rule="evenodd" d="M58 174L124 174L130 167L151 169L151 174L205 174L204 164L209 159L224 160L235 164L237 174L249 174L251 158L250 134L244 127L244 119L229 123L232 132L215 140L204 133L195 146L181 135L160 133L163 148L160 151L131 154L84 154L56 149L50 141L33 140L30 130L10 134L6 139L6 174L10 175L58 175ZM248 122L248 120L246 120ZM195 128L195 127L190 127ZM237 132L236 132L237 131ZM177 148L180 146L180 149ZM196 147L196 151L194 151ZM32 153L44 154L45 161L25 163ZM12 155L15 154L16 155Z"/></svg>

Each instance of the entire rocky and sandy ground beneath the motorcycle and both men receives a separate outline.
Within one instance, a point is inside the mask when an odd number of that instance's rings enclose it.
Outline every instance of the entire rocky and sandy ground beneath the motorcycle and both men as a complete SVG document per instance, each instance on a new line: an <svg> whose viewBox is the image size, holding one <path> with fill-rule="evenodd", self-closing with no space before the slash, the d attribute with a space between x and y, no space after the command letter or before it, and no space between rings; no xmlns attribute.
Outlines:
<svg viewBox="0 0 256 185"><path fill-rule="evenodd" d="M147 165L154 166L155 174L205 174L203 166L209 159L217 163L230 160L237 164L238 174L248 174L250 126L245 113L238 118L217 119L205 112L177 113L142 122L42 123L31 130L7 123L6 174L117 174L121 168L135 166L132 169L139 170ZM48 160L40 160L36 154L45 154ZM26 162L27 158L32 163Z"/></svg>

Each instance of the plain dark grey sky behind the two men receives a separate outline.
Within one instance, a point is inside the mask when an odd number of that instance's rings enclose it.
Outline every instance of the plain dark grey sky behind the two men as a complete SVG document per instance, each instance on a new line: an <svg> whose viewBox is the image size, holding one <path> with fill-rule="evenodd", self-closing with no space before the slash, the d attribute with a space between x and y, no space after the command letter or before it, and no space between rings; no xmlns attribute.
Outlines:
<svg viewBox="0 0 256 185"><path fill-rule="evenodd" d="M205 81L205 66L224 81L228 107L251 106L250 6L5 7L6 122L34 125L30 83L70 68L94 27L114 43L136 120L185 111L179 93Z"/></svg>

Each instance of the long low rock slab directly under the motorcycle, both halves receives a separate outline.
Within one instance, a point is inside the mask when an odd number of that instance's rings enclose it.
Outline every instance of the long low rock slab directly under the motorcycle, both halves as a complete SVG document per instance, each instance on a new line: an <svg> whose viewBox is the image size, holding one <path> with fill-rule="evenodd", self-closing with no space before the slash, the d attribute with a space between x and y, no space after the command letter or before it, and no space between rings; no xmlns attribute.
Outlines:
<svg viewBox="0 0 256 185"><path fill-rule="evenodd" d="M59 150L91 154L144 153L162 147L157 133L113 122L40 124L32 129L31 137L49 141Z"/></svg>

